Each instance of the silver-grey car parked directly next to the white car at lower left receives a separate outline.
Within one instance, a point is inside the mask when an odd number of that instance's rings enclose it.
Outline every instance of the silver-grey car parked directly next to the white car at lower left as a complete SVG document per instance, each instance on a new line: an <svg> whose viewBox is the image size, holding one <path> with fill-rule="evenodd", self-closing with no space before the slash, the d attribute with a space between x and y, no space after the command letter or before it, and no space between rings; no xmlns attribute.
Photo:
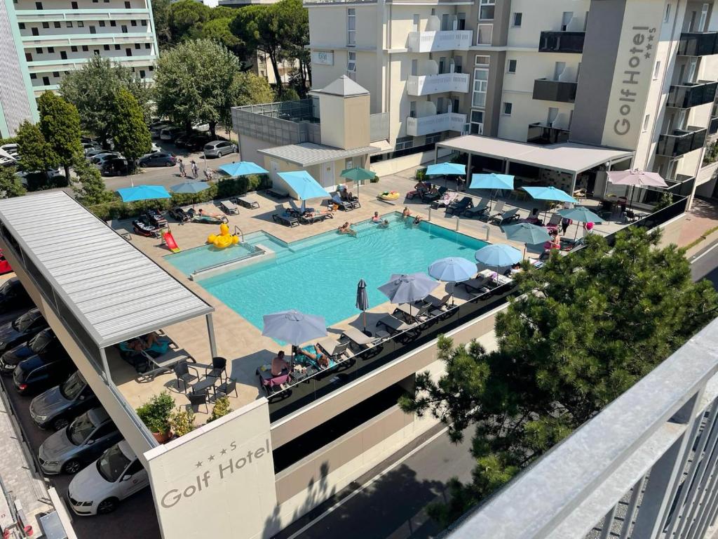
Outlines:
<svg viewBox="0 0 718 539"><path fill-rule="evenodd" d="M42 442L40 468L45 474L76 474L119 441L122 435L105 409L92 408Z"/></svg>

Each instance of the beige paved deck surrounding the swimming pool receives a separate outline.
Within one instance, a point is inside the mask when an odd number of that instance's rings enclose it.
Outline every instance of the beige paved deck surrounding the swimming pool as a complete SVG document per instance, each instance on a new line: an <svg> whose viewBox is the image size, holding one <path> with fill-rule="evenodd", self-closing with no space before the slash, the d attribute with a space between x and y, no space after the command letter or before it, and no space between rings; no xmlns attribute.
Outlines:
<svg viewBox="0 0 718 539"><path fill-rule="evenodd" d="M407 206L412 215L419 213L419 215L424 218L429 218L429 205L421 203L418 198L412 201L404 201L404 193L412 190L416 183L416 180L413 179L414 170L415 169L409 169L398 172L396 175L385 176L381 178L381 182L379 183L362 185L359 190L361 208L350 212L337 211L333 219L327 219L322 223L312 225L295 226L293 228L282 226L272 221L271 216L273 213L276 213L275 208L282 201L277 201L275 198L257 193L255 197L259 201L260 207L253 210L241 208L238 215L228 216L230 231L234 230L234 226L239 226L244 234L255 231L266 231L282 241L289 243L314 236L315 234L321 234L322 232L335 230L337 226L340 226L345 221L349 221L350 223L364 221L371 218L375 211L378 211L381 215L391 211L401 211L404 206ZM394 201L394 203L379 201L377 195L385 190L397 190L399 193L402 193L402 195L398 201ZM355 191L356 190L354 190L354 192ZM476 201L478 200L475 193L469 194L472 195ZM286 201L288 201L288 199L284 199L284 202ZM506 203L505 209L514 206L518 207L520 208L519 213L523 218L528 216L531 212L531 208L543 208L543 206L539 206L536 202L541 203L541 201L510 201ZM312 204L312 206L316 207L317 204L318 201ZM597 206L597 201L585 201L584 206ZM212 204L195 206L197 209L200 207L208 213L222 214L222 211ZM172 218L168 220L173 221ZM523 244L508 241L498 226L486 224L477 219L447 217L444 216L443 210L434 210L431 213L431 222L450 230L456 230L458 226L458 230L462 234L467 234L468 236L492 243L513 244L514 247L523 249ZM119 225L126 226L127 229L131 230L131 222L129 221L121 222ZM182 249L191 249L192 247L205 244L207 236L217 233L219 228L214 225L195 223L177 224L174 222L170 222L169 226L174 239ZM625 226L625 224L611 221L595 226L594 231L597 234L610 234L617 229L623 228L623 226ZM574 230L574 227L569 228L567 236L572 237ZM579 231L579 235L580 234L581 232ZM161 240L144 238L133 234L131 241L137 248L141 249L142 252L162 266L164 270L167 270L169 274L176 277L177 280L180 280L180 282L189 287L190 290L195 292L200 298L214 306L215 313L213 315L213 321L218 355L228 359L228 373L230 377L237 381L238 396L230 395L233 409L255 400L259 395L264 395L264 391L259 387L255 373L257 367L262 364L269 364L271 359L276 355L276 352L279 350L276 342L270 338L261 336L261 331L258 330L258 328L246 321L234 310L228 308L227 305L213 295L210 295L210 293L196 282L183 275L182 272L177 270L172 264L165 261L164 257L169 254L169 251L162 247L160 244ZM529 257L536 258L538 254L540 254L540 251L528 250ZM441 286L443 287L444 285L442 284ZM439 287L434 293L439 295L441 292L442 288ZM468 295L462 295L461 292L457 292L456 298L457 303L461 303L469 297ZM376 308L372 308L372 310L367 313L367 328L373 330L376 320L384 313L393 311L394 308L395 305L391 305L388 302L378 305ZM332 326L332 328L330 328L330 335L336 333L338 337L341 328L348 326L362 327L360 326L360 313ZM198 362L202 364L211 362L208 332L204 317L174 324L173 326L164 328L164 331L175 343L185 349ZM285 350L288 352L289 347ZM141 405L142 402L148 400L152 395L156 395L164 389L169 390L177 402L177 405L184 407L189 404L185 394L178 390L173 373L161 374L154 377L154 379L144 380L136 374L133 367L119 357L114 349L108 350L108 361L113 382L131 406L137 407ZM202 374L202 369L200 369L200 374ZM211 402L209 408L211 410ZM199 411L195 409L195 413L197 413L196 422L198 424L204 423L206 420L204 407L200 407Z"/></svg>

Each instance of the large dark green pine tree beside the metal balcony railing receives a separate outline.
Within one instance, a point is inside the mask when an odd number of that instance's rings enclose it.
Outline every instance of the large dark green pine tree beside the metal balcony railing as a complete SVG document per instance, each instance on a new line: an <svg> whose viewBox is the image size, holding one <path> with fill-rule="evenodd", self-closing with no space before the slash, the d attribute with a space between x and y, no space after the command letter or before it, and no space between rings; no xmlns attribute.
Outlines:
<svg viewBox="0 0 718 539"><path fill-rule="evenodd" d="M611 249L592 235L571 256L517 275L521 295L496 318L496 351L439 340L446 371L416 377L400 405L432 413L453 441L475 425L472 482L434 505L444 525L569 436L716 315L717 293L694 283L684 252L630 229ZM536 292L540 290L541 292Z"/></svg>

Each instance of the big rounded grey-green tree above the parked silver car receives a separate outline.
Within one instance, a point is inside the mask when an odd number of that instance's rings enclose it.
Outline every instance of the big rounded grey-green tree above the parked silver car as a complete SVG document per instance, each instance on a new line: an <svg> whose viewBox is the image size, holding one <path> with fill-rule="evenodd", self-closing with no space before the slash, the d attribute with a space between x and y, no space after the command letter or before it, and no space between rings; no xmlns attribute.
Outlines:
<svg viewBox="0 0 718 539"><path fill-rule="evenodd" d="M211 40L180 43L159 58L154 75L157 112L176 124L209 124L215 137L219 121L229 118L236 97L230 91L240 73L239 60Z"/></svg>

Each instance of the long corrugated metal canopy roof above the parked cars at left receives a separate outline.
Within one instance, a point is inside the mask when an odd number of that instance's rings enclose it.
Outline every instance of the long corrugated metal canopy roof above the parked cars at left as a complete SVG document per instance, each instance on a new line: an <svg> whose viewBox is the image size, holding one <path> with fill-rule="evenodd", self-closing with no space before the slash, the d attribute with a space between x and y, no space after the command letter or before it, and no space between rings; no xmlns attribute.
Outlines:
<svg viewBox="0 0 718 539"><path fill-rule="evenodd" d="M214 310L67 193L0 201L0 221L101 348Z"/></svg>

